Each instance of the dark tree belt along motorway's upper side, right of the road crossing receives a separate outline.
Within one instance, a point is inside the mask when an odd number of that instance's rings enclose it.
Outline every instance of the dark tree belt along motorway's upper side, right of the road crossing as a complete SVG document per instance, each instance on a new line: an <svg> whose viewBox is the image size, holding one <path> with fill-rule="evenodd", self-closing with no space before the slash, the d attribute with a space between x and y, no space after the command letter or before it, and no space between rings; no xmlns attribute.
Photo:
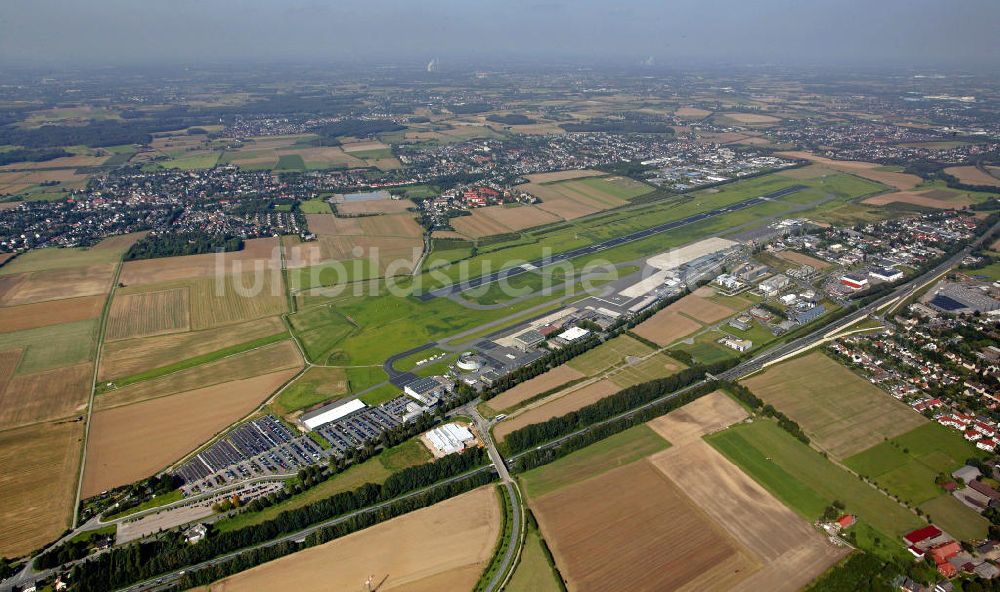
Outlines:
<svg viewBox="0 0 1000 592"><path fill-rule="evenodd" d="M567 413L559 417L553 417L548 421L525 426L508 434L504 440L504 447L511 453L522 452L533 448L539 444L548 442L560 436L570 434L581 428L592 426L596 423L621 415L627 411L636 409L648 404L669 393L688 387L705 377L706 373L715 374L723 372L736 365L736 360L726 360L708 366L695 365L685 368L680 372L658 378L649 382L644 382L617 393L605 397L596 403ZM691 392L701 392L700 389L692 389ZM697 396L700 396L697 395ZM671 399L669 402L676 408L680 405L693 401L697 396L684 393ZM662 414L662 413L660 413ZM659 414L658 414L659 415ZM655 417L655 416L654 416Z"/></svg>

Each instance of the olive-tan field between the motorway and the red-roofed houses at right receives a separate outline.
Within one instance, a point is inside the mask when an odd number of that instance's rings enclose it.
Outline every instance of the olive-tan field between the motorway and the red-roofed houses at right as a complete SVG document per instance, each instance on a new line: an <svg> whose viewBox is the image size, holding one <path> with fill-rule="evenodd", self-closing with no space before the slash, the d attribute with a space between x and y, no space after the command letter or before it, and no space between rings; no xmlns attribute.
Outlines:
<svg viewBox="0 0 1000 592"><path fill-rule="evenodd" d="M867 450L927 422L919 413L820 352L782 362L745 381L836 458Z"/></svg>

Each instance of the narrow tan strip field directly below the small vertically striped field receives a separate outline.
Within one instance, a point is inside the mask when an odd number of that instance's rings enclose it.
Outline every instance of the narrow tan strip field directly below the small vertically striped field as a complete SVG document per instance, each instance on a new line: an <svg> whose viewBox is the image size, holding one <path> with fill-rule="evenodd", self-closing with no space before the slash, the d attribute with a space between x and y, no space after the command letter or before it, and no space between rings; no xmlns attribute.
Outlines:
<svg viewBox="0 0 1000 592"><path fill-rule="evenodd" d="M281 319L270 317L205 331L105 343L98 379L104 381L138 374L284 332L285 326Z"/></svg>

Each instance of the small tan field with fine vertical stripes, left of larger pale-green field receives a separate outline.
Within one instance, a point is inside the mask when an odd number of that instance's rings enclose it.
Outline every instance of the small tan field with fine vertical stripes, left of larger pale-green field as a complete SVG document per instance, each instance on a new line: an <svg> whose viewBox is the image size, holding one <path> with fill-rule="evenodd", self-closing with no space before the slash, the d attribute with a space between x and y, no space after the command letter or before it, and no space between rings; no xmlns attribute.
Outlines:
<svg viewBox="0 0 1000 592"><path fill-rule="evenodd" d="M121 294L111 304L105 339L149 337L187 331L190 327L187 287Z"/></svg>

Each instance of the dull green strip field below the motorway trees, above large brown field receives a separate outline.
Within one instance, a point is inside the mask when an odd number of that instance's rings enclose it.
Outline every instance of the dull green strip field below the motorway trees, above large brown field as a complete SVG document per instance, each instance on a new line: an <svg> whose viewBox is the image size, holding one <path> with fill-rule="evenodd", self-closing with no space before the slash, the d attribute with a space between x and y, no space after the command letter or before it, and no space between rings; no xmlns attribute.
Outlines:
<svg viewBox="0 0 1000 592"><path fill-rule="evenodd" d="M520 475L525 494L537 497L665 450L670 443L646 424L619 432Z"/></svg>

